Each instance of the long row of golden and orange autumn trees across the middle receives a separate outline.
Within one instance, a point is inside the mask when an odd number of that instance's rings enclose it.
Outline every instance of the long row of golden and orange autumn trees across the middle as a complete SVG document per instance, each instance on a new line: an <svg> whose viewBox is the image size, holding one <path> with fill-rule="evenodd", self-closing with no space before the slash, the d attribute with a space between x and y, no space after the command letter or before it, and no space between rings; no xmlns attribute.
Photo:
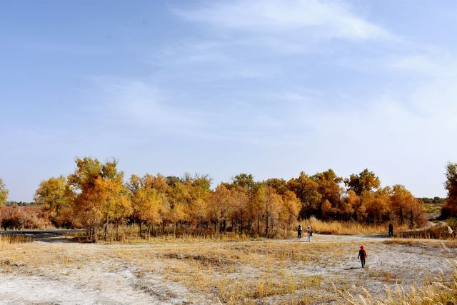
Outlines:
<svg viewBox="0 0 457 305"><path fill-rule="evenodd" d="M34 200L55 226L86 228L91 237L103 229L105 239L109 227L121 224L137 224L140 235L172 230L253 236L295 229L298 219L310 216L423 224L421 201L404 186L382 188L368 169L347 179L331 169L311 176L301 172L288 181L254 181L251 174L238 174L211 189L205 175L132 175L125 181L115 159L85 157L76 158L73 174L42 181Z"/></svg>

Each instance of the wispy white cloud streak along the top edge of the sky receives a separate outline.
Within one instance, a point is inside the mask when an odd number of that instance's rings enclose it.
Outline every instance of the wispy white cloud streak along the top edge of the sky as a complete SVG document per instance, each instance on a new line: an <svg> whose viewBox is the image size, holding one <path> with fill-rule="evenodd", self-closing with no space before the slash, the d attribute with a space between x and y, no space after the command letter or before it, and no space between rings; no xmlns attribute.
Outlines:
<svg viewBox="0 0 457 305"><path fill-rule="evenodd" d="M176 10L188 21L254 34L299 31L318 38L391 39L393 35L353 14L340 1L212 1L199 9Z"/></svg>

